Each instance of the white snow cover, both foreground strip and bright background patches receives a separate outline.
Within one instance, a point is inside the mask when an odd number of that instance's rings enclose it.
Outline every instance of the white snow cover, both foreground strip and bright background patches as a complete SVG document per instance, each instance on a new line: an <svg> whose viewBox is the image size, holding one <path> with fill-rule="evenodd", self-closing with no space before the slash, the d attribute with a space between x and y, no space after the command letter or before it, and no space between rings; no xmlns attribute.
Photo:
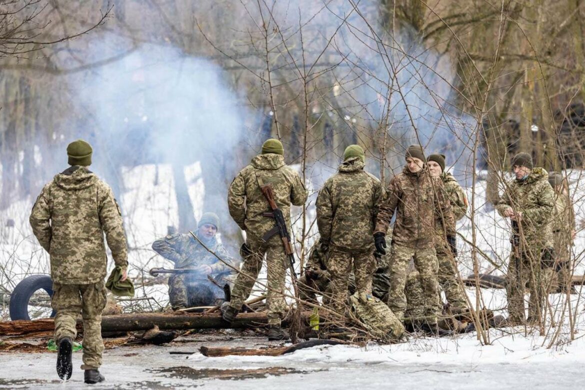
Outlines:
<svg viewBox="0 0 585 390"><path fill-rule="evenodd" d="M129 239L130 275L138 286L137 298L146 301L122 302L140 310L158 310L167 304L167 287L144 279L152 267L170 267L151 249L152 241L166 234L167 226L177 225L177 205L171 168L159 166L159 180L154 185L154 165L135 167L123 172L126 192L119 201L123 210ZM572 194L577 215L577 229L585 215L579 185L581 172L573 172ZM201 209L204 185L198 164L185 168L185 177L196 217ZM509 228L493 209L484 206L485 181L476 186L476 244L483 253L478 256L480 272L505 272L510 243ZM467 189L469 199L472 190ZM0 286L8 294L23 277L49 271L49 258L31 235L28 216L34 199L15 202L0 213ZM470 201L471 203L471 201ZM8 219L14 227L6 227ZM231 222L229 222L231 223ZM300 225L300 224L299 224ZM295 229L297 226L295 226ZM472 241L471 221L467 216L458 225L466 240ZM458 240L459 271L462 277L472 273L473 261L469 244ZM583 274L585 237L578 233L573 247L577 257L577 274ZM485 257L483 257L485 255ZM487 260L487 258L490 261ZM109 264L109 269L113 264ZM145 273L146 272L146 273ZM265 275L265 274L264 274ZM146 283L143 285L143 281ZM476 291L467 289L470 301L476 302ZM584 291L585 292L585 291ZM481 289L481 300L495 314L507 315L503 290ZM581 367L585 363L585 318L581 294L571 296L571 319L575 323L570 341L569 310L563 295L549 296L550 310L558 324L545 327L540 336L536 329L490 330L489 345L483 345L476 334L443 339L411 337L406 343L393 346L335 346L301 350L283 357L206 358L199 353L189 357L170 355L171 350L197 351L206 342L214 346L266 346L264 338L238 333L215 336L189 336L181 343L164 347L118 347L106 350L103 372L108 381L100 388L583 388ZM0 316L8 319L6 300L2 299ZM555 334L558 332L558 336ZM236 337L236 339L233 339ZM75 354L74 377L63 385L54 380L53 353L0 353L0 387L2 388L79 388L82 372L77 370L81 354ZM23 370L23 368L26 368ZM229 382L236 380L237 382Z"/></svg>

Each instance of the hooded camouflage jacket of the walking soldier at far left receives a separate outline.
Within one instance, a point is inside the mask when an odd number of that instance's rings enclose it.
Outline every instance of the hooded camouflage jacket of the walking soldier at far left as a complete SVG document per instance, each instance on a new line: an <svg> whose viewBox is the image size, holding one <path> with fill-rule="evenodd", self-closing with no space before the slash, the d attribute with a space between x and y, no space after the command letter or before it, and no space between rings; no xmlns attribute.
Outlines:
<svg viewBox="0 0 585 390"><path fill-rule="evenodd" d="M126 232L112 189L85 167L70 167L45 185L29 220L50 254L54 282L104 280L108 262L104 233L116 265L128 266Z"/></svg>

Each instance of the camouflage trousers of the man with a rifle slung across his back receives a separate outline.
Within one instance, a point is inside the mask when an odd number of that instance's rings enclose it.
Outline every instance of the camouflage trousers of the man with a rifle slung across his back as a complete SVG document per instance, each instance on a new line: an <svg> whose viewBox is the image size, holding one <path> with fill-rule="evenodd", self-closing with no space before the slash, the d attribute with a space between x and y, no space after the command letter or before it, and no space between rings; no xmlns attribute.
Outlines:
<svg viewBox="0 0 585 390"><path fill-rule="evenodd" d="M269 325L280 326L281 320L287 313L287 303L284 300L286 268L288 262L280 236L273 236L267 243L252 237L247 239L247 246L252 252L243 259L242 269L236 278L232 289L232 300L229 305L237 310L242 309L243 303L250 296L256 283L264 255L266 255L267 288L266 309Z"/></svg>

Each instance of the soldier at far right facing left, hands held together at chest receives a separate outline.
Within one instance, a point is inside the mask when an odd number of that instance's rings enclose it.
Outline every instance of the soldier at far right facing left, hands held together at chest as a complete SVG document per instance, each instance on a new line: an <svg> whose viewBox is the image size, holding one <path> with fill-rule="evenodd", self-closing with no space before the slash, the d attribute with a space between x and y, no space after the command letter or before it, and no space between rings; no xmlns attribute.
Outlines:
<svg viewBox="0 0 585 390"><path fill-rule="evenodd" d="M548 172L532 167L528 153L512 158L515 178L507 183L496 208L512 222L512 251L506 295L508 298L508 325L522 325L525 318L524 289L530 289L528 322L543 319L546 286L552 277L554 262L552 218L555 192L548 182ZM517 227L514 227L517 226Z"/></svg>

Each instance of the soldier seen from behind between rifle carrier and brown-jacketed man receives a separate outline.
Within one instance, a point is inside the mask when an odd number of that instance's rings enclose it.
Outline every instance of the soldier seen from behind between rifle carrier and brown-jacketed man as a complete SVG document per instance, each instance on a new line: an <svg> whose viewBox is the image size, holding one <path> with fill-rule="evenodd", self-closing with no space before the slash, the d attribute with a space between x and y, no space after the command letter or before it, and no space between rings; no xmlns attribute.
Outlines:
<svg viewBox="0 0 585 390"><path fill-rule="evenodd" d="M348 146L339 172L325 182L316 201L317 226L321 240L329 247L331 309L339 315L347 308L347 283L352 270L360 294L371 294L371 278L376 270L371 237L384 188L380 180L364 171L364 166L362 147Z"/></svg>

